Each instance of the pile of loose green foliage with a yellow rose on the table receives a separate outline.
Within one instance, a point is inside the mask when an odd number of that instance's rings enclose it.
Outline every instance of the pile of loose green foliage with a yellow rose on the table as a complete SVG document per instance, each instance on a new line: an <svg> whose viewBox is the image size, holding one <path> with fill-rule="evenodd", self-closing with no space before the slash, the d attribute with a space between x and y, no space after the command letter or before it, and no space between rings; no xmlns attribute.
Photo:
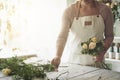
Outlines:
<svg viewBox="0 0 120 80"><path fill-rule="evenodd" d="M33 78L45 78L46 72L53 71L51 64L26 64L23 58L12 57L0 59L0 70L3 74L12 76L14 80L32 80Z"/></svg>

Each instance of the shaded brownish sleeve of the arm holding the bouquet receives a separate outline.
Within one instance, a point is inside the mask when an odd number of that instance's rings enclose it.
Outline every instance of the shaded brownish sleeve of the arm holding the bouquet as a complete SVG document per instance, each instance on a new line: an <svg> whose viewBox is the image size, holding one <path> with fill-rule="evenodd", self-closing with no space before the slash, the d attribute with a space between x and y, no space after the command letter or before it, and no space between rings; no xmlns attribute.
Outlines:
<svg viewBox="0 0 120 80"><path fill-rule="evenodd" d="M105 23L105 31L104 31L104 47L105 47L105 52L108 50L108 48L111 46L111 43L113 42L114 39L114 33L113 33L113 14L112 11L109 7L105 6L105 9L102 10L102 15L104 18L104 23Z"/></svg>

